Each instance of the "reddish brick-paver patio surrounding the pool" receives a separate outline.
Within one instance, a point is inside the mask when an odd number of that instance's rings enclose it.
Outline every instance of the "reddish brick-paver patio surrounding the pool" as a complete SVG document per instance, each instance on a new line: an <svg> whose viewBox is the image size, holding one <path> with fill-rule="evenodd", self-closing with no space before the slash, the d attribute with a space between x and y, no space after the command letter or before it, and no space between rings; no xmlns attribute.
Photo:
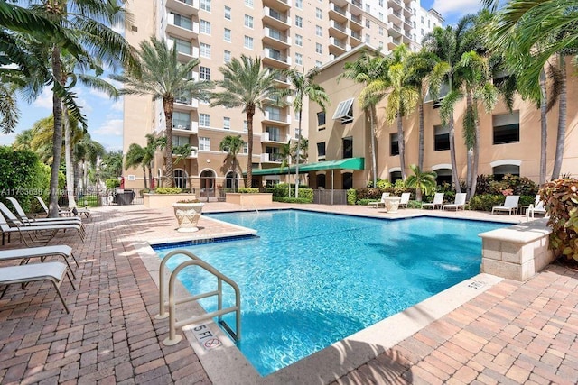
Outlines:
<svg viewBox="0 0 578 385"><path fill-rule="evenodd" d="M274 204L273 207L286 205ZM304 206L386 216L359 206ZM263 207L265 208L265 207ZM238 206L210 203L206 211ZM400 210L399 215L420 214ZM442 213L522 221L485 213ZM139 245L182 239L172 209L109 206L84 220L87 241L57 235L51 244L73 247L80 267L77 290L61 289L67 315L48 284L10 287L0 299L0 383L249 383L236 373L215 380L187 340L165 346L166 320L156 320L158 288ZM194 236L237 231L201 217ZM3 248L21 247L17 237ZM1 249L0 249L1 250ZM0 265L5 265L3 262ZM578 271L550 265L526 282L500 280L376 358L335 375L337 383L576 383L578 381ZM395 334L396 330L390 330ZM350 344L337 362L353 362L367 346ZM331 380L284 378L285 383ZM251 380L253 381L253 380ZM263 382L275 382L265 378Z"/></svg>

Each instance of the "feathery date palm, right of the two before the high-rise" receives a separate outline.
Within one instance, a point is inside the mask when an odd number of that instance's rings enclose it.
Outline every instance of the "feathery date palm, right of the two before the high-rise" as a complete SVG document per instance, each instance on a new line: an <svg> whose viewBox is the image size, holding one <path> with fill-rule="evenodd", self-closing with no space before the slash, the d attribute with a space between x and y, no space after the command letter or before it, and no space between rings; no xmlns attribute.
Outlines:
<svg viewBox="0 0 578 385"><path fill-rule="evenodd" d="M253 116L256 110L264 111L267 100L278 100L282 93L275 87L276 69L262 69L261 58L241 55L220 67L223 80L217 81L220 92L211 95L210 106L222 105L226 108L242 108L247 114L247 179L245 186L253 183Z"/></svg>

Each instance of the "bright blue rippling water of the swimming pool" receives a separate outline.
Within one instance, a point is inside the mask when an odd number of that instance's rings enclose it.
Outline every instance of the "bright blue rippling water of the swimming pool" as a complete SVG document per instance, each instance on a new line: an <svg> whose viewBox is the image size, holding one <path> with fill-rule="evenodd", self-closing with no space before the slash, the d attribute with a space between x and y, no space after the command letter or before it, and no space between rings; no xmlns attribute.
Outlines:
<svg viewBox="0 0 578 385"><path fill-rule="evenodd" d="M420 217L381 220L298 210L207 215L259 237L187 247L238 283L238 347L263 376L322 350L480 272L478 234L503 224ZM157 250L162 258L174 250ZM174 268L186 257L173 258ZM198 294L200 269L179 274ZM234 303L226 290L224 307ZM216 299L200 301L216 309ZM224 316L234 327L233 315Z"/></svg>

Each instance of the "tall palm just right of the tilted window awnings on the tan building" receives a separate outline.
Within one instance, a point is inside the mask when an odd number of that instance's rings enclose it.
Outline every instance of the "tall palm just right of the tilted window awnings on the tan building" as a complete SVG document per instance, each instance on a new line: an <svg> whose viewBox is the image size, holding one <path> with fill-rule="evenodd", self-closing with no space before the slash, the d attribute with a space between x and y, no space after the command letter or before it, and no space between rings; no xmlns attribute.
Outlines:
<svg viewBox="0 0 578 385"><path fill-rule="evenodd" d="M343 66L343 72L338 77L349 78L356 83L363 84L366 87L371 82L384 78L387 70L386 61L381 56L373 55L368 50L361 52L359 58L355 61L349 61ZM371 130L371 173L373 179L373 186L378 183L378 165L376 154L376 134L377 126L377 111L376 105L383 99L383 93L367 93L359 96L359 106L369 116L369 129Z"/></svg>

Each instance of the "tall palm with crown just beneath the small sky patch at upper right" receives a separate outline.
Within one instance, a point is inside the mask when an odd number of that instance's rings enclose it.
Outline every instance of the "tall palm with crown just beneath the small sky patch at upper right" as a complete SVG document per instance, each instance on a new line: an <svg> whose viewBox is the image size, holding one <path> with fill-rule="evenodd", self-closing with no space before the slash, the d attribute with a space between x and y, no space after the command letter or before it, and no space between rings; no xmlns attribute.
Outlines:
<svg viewBox="0 0 578 385"><path fill-rule="evenodd" d="M433 31L424 37L424 49L433 52L440 60L447 63L448 69L444 78L444 82L449 88L447 95L443 96L440 106L440 117L442 124L448 127L450 140L450 160L452 162L452 179L456 192L461 193L460 177L458 175L458 165L455 157L455 131L453 113L455 105L461 99L461 91L456 87L456 77L458 63L461 60L461 55L465 52L473 50L478 42L476 37L471 33L471 29L475 22L474 15L466 15L460 19L455 25L449 25L445 28L435 27ZM477 37L479 40L479 36ZM458 82L459 83L459 82ZM439 88L434 96L439 93Z"/></svg>

